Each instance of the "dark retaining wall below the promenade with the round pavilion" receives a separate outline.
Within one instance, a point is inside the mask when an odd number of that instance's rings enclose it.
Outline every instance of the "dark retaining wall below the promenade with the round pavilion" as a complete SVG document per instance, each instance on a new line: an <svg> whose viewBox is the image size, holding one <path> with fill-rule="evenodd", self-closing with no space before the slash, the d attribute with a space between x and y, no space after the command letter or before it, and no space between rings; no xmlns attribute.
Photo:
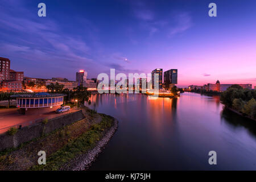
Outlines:
<svg viewBox="0 0 256 182"><path fill-rule="evenodd" d="M60 117L48 120L48 123L37 123L36 125L26 126L18 130L13 136L2 134L0 135L0 151L5 148L18 147L23 142L28 142L34 138L41 137L43 133L51 133L56 129L60 129L66 125L70 125L84 118L82 111L61 115Z"/></svg>

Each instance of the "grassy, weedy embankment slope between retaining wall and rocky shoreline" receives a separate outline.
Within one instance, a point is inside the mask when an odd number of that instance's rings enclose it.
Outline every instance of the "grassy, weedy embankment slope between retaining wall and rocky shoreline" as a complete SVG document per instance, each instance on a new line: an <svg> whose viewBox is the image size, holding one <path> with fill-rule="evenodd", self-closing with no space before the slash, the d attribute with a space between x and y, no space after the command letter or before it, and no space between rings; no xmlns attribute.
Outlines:
<svg viewBox="0 0 256 182"><path fill-rule="evenodd" d="M0 152L0 170L72 169L69 162L96 147L115 122L113 117L85 106L82 106L82 113L85 119ZM46 165L38 164L39 151L46 152Z"/></svg>

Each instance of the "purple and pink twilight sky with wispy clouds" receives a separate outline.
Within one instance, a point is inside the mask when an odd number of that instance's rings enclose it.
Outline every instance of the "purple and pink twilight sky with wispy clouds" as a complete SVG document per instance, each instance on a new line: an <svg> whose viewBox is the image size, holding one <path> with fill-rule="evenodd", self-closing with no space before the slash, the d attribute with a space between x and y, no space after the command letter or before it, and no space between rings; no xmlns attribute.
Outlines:
<svg viewBox="0 0 256 182"><path fill-rule="evenodd" d="M38 4L46 4L46 17ZM217 5L210 17L209 3ZM178 69L179 87L256 86L256 1L1 0L0 57L24 76L75 80Z"/></svg>

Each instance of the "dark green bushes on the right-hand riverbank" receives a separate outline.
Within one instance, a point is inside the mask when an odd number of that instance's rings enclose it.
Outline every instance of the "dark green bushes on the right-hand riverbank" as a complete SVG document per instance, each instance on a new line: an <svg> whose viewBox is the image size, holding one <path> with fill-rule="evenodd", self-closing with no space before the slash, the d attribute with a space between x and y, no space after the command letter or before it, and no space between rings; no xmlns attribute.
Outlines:
<svg viewBox="0 0 256 182"><path fill-rule="evenodd" d="M232 85L221 93L220 100L225 107L233 109L243 116L256 119L256 90L243 89Z"/></svg>

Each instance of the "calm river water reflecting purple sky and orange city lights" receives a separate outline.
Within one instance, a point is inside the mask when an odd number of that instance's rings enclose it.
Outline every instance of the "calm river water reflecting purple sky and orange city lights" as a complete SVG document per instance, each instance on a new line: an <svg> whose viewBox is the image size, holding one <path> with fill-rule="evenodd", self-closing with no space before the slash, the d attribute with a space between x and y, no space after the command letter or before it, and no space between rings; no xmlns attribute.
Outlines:
<svg viewBox="0 0 256 182"><path fill-rule="evenodd" d="M223 111L218 96L97 94L90 100L90 109L119 121L91 170L256 170L255 123ZM208 163L212 150L217 165Z"/></svg>

